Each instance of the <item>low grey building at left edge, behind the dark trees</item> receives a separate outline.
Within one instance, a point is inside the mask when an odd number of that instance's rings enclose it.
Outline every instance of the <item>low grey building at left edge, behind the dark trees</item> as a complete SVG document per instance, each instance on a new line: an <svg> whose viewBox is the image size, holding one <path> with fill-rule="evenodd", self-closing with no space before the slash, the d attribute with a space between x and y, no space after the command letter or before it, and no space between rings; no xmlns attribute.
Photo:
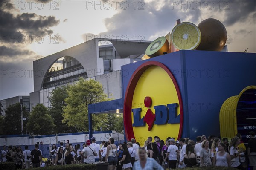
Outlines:
<svg viewBox="0 0 256 170"><path fill-rule="evenodd" d="M29 96L16 96L12 98L7 98L0 100L0 115L5 116L5 110L7 107L9 107L12 104L20 103L20 99L23 101L23 106L26 107L26 111L30 111L30 101Z"/></svg>

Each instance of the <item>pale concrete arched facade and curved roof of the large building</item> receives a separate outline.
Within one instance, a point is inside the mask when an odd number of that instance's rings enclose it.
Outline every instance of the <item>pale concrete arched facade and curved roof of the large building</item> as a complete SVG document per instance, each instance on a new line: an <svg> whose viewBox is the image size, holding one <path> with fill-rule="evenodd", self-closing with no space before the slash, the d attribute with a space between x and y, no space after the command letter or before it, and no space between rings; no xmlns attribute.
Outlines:
<svg viewBox="0 0 256 170"><path fill-rule="evenodd" d="M140 40L118 40L94 38L92 40L73 46L69 49L48 55L44 58L33 61L34 68L34 91L39 91L42 88L44 77L55 61L63 56L70 56L75 58L84 67L86 72L94 73L88 74L88 77L93 77L95 73L100 73L103 68L103 59L99 58L100 41L110 41L120 55L120 58L131 58L130 55L145 54L145 49L151 41Z"/></svg>

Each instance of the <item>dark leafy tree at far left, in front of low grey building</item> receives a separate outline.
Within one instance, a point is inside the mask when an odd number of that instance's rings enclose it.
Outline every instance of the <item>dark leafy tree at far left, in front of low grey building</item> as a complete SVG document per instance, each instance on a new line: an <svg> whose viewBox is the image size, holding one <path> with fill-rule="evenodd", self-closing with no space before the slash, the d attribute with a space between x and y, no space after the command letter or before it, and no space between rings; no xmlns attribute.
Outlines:
<svg viewBox="0 0 256 170"><path fill-rule="evenodd" d="M5 110L5 120L4 120L4 134L15 135L21 134L21 105L16 103L10 105ZM29 112L26 111L26 107L22 107L23 118L29 117ZM25 132L25 126L23 126L23 132Z"/></svg>

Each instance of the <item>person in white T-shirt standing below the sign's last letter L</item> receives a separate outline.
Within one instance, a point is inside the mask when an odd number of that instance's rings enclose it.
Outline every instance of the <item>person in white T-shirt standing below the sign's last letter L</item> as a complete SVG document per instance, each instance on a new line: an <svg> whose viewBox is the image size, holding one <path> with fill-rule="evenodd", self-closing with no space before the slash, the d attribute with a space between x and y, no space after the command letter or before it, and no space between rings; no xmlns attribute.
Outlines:
<svg viewBox="0 0 256 170"><path fill-rule="evenodd" d="M169 161L169 167L171 169L176 169L176 164L177 164L177 153L179 153L179 148L175 145L175 139L171 138L168 140L169 141L169 147L167 149L165 161L168 158Z"/></svg>

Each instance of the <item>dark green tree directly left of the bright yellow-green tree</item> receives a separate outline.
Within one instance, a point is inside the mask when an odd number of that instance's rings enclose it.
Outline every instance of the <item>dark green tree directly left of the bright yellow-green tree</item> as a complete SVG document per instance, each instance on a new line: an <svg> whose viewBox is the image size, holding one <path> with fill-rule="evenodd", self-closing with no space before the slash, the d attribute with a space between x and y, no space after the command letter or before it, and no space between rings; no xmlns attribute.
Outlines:
<svg viewBox="0 0 256 170"><path fill-rule="evenodd" d="M49 108L49 115L53 118L53 122L56 125L54 128L54 133L71 133L76 132L74 128L69 128L66 124L67 121L63 121L64 119L64 106L65 98L67 95L68 86L61 86L61 88L57 87L53 89L51 92L51 97L49 97L49 101L51 102L51 108Z"/></svg>

